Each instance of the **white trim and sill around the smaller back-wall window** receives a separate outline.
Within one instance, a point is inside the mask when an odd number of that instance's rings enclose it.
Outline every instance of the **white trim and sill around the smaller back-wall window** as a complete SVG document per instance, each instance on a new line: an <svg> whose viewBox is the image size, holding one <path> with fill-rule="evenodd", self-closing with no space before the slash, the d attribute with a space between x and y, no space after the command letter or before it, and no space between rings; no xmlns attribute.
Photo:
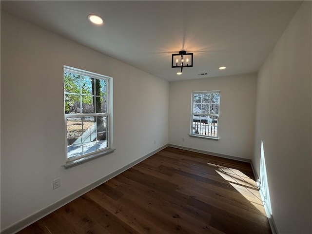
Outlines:
<svg viewBox="0 0 312 234"><path fill-rule="evenodd" d="M202 93L219 93L220 98L219 98L219 114L215 115L218 116L218 126L217 126L217 134L216 137L213 136L205 136L205 135L200 135L200 134L195 134L193 133L193 115L196 113L193 113L194 110L194 95L195 94L202 94ZM192 96L191 96L191 116L190 116L190 134L189 137L198 137L198 138L202 138L202 139L210 139L210 140L219 140L220 136L219 136L219 122L220 122L220 102L221 102L221 91L220 90L213 90L213 91L195 91L192 92ZM197 114L197 115L203 115L206 116L205 114Z"/></svg>

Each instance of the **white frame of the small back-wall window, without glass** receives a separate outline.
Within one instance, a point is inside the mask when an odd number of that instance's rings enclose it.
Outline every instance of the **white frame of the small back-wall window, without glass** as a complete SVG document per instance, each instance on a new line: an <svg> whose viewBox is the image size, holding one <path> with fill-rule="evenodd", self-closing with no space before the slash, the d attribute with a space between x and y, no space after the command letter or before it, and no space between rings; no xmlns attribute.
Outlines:
<svg viewBox="0 0 312 234"><path fill-rule="evenodd" d="M219 94L219 108L218 108L218 114L210 114L210 113L194 113L194 97L195 94L214 94L214 93L218 93ZM191 96L191 119L190 119L190 137L200 137L200 138L207 138L207 139L213 139L213 140L219 140L220 136L219 136L219 120L220 120L220 101L221 101L221 91L220 90L210 90L210 91L194 91L192 92L192 96ZM211 103L209 103L211 104ZM193 116L197 115L197 116L214 116L217 117L217 128L216 128L216 136L209 136L209 135L202 135L202 134L196 134L193 132Z"/></svg>

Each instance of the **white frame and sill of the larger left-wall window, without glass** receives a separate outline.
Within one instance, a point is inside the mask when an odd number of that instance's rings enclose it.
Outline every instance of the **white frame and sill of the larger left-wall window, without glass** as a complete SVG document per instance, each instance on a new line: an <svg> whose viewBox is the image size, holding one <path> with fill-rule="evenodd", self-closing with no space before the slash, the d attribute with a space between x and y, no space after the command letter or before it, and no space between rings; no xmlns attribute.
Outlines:
<svg viewBox="0 0 312 234"><path fill-rule="evenodd" d="M78 74L81 76L87 76L90 78L94 78L94 79L101 79L101 80L105 80L106 81L106 112L104 113L96 113L96 106L95 106L95 110L93 113L74 113L74 114L66 114L65 113L65 77L64 74L65 72L69 72L69 73L74 73L74 74ZM112 98L113 98L113 78L112 77L108 77L108 76L104 76L98 73L94 73L94 72L89 72L89 71L85 71L85 70L81 70L78 68L74 68L74 67L70 67L70 66L63 66L63 95L64 95L64 100L63 100L63 111L64 111L64 121L65 121L65 168L69 168L72 167L76 164L80 164L84 161L93 159L95 157L98 156L103 156L106 154L110 154L113 153L113 151L115 149L112 149L112 142L113 142L113 134L112 134L112 122L113 122L113 115L112 115L112 109L113 109L113 102L112 102ZM80 93L79 93L79 97L81 100L81 97L83 97L85 95L81 94L81 87L80 87ZM90 95L90 96L94 96L94 98L97 97L97 94L95 93L94 95ZM95 99L94 99L95 100ZM80 102L80 109L81 109L82 103ZM68 157L68 142L67 142L67 118L69 117L103 117L103 118L107 118L107 122L106 122L106 142L107 145L105 148L102 149L97 149L93 152L90 153L86 153L86 154L82 154L81 156L73 156L73 157Z"/></svg>

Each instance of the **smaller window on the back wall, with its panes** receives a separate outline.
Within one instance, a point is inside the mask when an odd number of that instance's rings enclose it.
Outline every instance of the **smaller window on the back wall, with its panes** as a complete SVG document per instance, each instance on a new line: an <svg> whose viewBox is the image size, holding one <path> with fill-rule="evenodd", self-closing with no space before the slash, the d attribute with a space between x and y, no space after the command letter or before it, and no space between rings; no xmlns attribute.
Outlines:
<svg viewBox="0 0 312 234"><path fill-rule="evenodd" d="M192 92L191 135L218 139L220 91Z"/></svg>

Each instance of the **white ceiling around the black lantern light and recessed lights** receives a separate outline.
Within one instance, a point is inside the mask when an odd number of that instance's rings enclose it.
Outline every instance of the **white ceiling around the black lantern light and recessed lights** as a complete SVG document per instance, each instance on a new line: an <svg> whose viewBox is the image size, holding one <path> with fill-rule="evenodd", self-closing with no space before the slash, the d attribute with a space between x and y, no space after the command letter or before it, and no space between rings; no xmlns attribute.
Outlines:
<svg viewBox="0 0 312 234"><path fill-rule="evenodd" d="M257 72L301 3L1 1L1 10L175 81ZM103 17L104 25L92 25L91 13ZM181 49L194 53L194 67L178 76L171 54Z"/></svg>

